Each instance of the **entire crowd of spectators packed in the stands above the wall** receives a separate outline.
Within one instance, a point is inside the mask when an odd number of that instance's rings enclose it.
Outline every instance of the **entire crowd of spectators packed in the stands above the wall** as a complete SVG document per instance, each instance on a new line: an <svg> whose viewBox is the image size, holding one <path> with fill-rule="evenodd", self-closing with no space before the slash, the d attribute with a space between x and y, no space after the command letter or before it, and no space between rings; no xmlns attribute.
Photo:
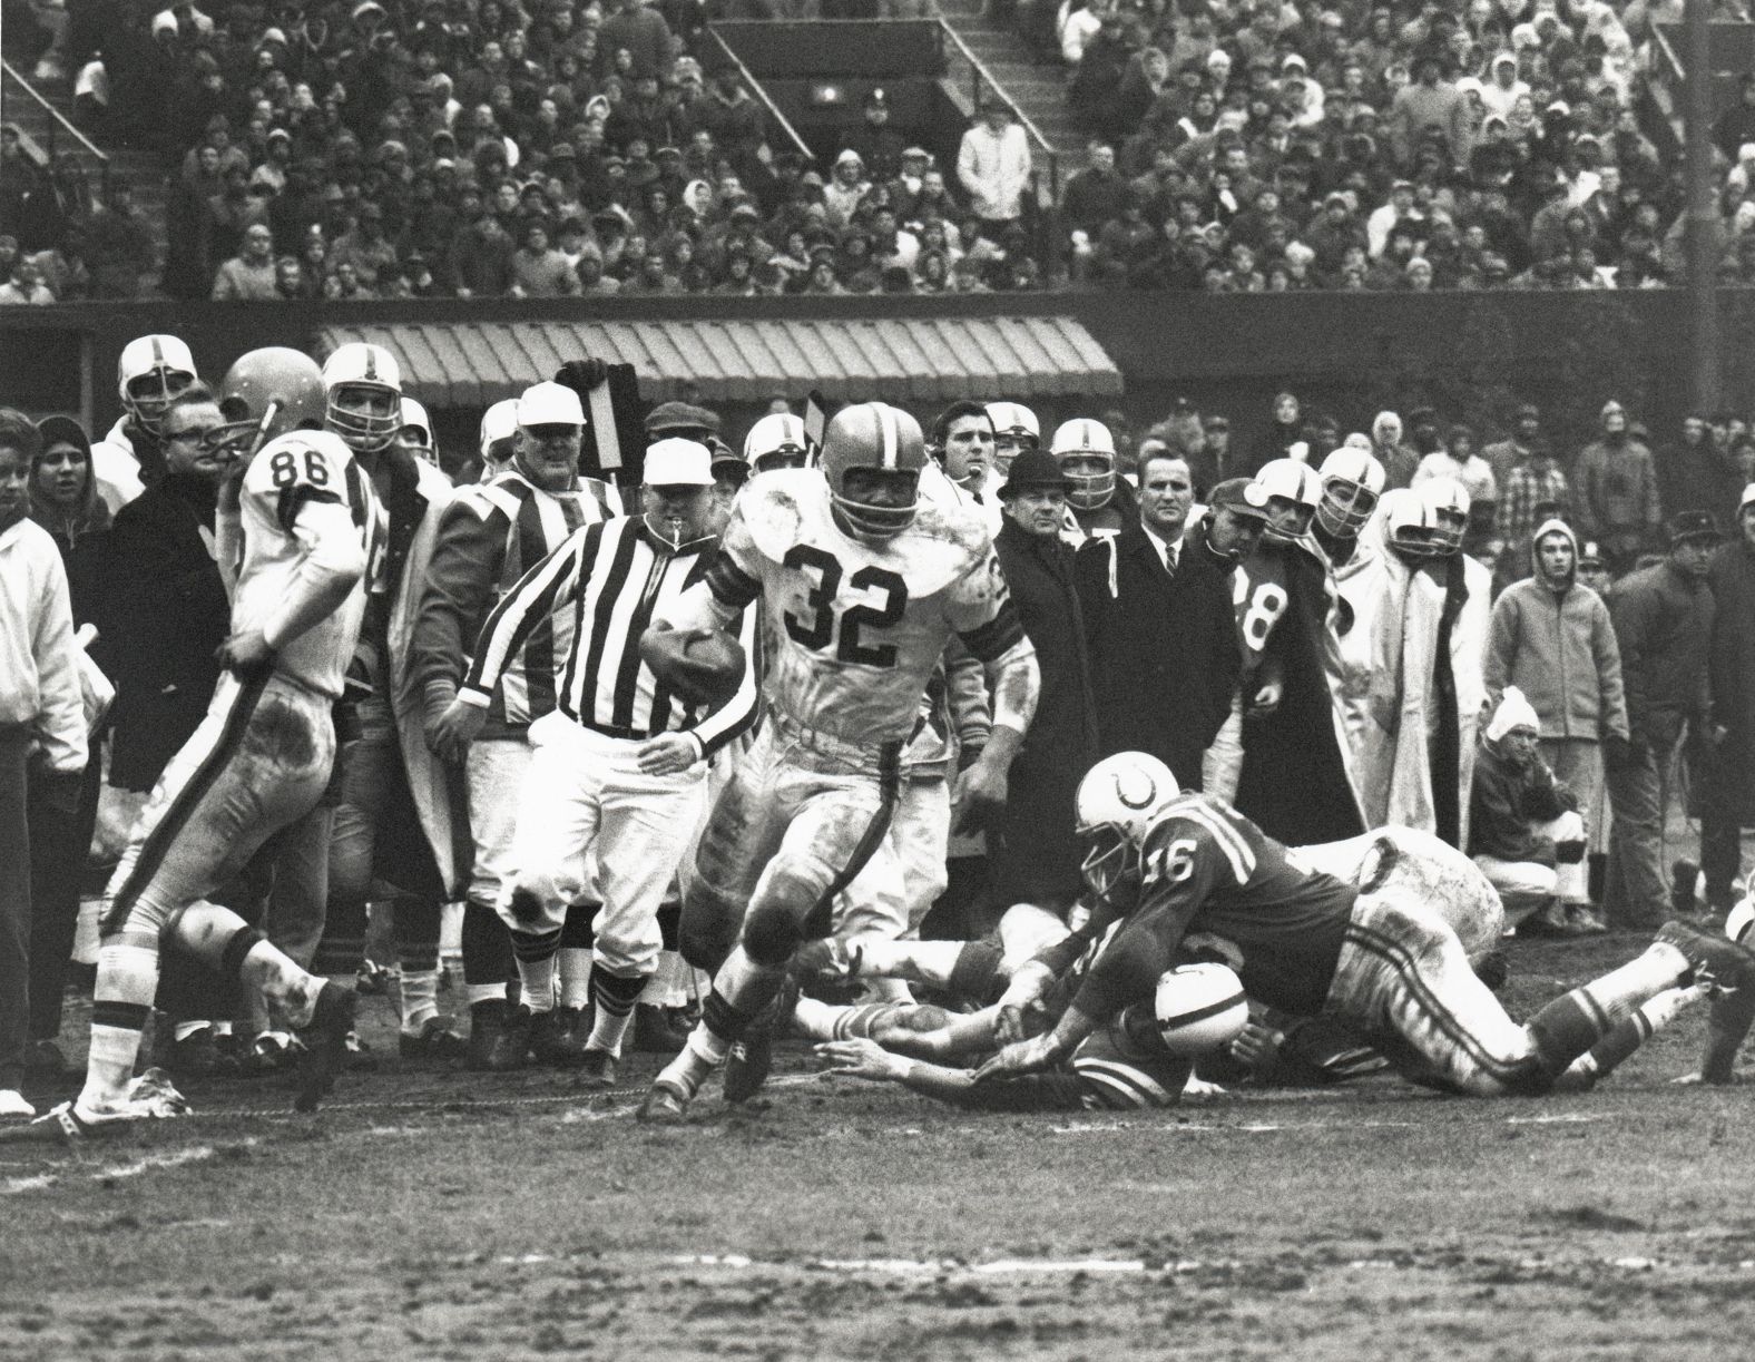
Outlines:
<svg viewBox="0 0 1755 1362"><path fill-rule="evenodd" d="M883 90L835 154L793 147L706 35L792 9L90 0L39 75L172 158L158 284L186 298L1681 279L1680 158L1637 109L1674 4L1021 0L1090 137L1046 218L1000 102L955 165ZM1715 144L1722 281L1755 283L1755 77ZM0 156L0 302L139 288L126 195L95 211L72 154L39 167L7 135Z"/></svg>

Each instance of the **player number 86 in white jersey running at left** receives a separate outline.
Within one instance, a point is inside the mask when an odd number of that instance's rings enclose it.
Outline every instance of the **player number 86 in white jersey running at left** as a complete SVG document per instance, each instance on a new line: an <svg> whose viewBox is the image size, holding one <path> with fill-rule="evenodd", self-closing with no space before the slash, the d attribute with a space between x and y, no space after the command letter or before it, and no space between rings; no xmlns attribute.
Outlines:
<svg viewBox="0 0 1755 1362"><path fill-rule="evenodd" d="M260 353L258 353L260 355ZM353 1029L355 993L307 974L232 909L207 902L279 828L316 806L335 758L332 709L365 613L363 577L381 532L370 486L335 435L293 428L323 411L316 365L270 351L251 376L256 405L204 435L242 441L219 493L218 555L230 579L226 672L207 718L165 767L111 879L100 921L91 1055L79 1097L26 1127L30 1137L77 1141L161 1115L132 1092L140 1032L168 943L260 990L307 1029L297 1106L312 1109L333 1081ZM228 388L232 384L228 383ZM211 398L202 390L204 404ZM228 391L225 412L239 414ZM274 435L254 456L247 449Z"/></svg>

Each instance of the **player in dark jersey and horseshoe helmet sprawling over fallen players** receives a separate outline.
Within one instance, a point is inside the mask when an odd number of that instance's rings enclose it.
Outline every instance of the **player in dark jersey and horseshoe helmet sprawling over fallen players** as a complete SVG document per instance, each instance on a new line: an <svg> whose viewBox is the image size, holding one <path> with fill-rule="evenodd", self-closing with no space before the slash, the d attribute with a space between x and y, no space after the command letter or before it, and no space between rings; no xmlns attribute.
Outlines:
<svg viewBox="0 0 1755 1362"><path fill-rule="evenodd" d="M1139 753L1095 765L1085 785L1113 785L1118 806L1150 779ZM1079 807L1093 807L1081 788ZM1053 1030L1014 1039L981 1079L1060 1064L1151 988L1190 934L1237 951L1250 997L1295 1016L1357 1027L1406 1078L1474 1095L1588 1086L1680 1007L1755 988L1755 955L1683 923L1620 969L1574 988L1527 1025L1513 1022L1469 965L1455 930L1392 879L1355 888L1300 864L1248 818L1206 795L1183 795L1148 827L1081 818L1092 923L1018 971L1006 1007L1034 1002L1104 930L1121 927L1085 974ZM1083 937L1083 939L1081 939ZM1002 1011L1002 1022L1006 1020Z"/></svg>

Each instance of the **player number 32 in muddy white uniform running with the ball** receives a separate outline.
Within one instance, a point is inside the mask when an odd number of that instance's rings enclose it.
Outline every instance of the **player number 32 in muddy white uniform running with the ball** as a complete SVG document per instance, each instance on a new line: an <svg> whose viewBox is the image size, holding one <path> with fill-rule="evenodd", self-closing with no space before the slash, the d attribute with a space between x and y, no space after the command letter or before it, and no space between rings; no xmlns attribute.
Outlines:
<svg viewBox="0 0 1755 1362"><path fill-rule="evenodd" d="M920 425L883 404L842 409L821 470L779 469L737 498L706 581L655 628L723 632L760 599L769 714L714 802L683 904L683 955L713 971L700 1025L656 1078L641 1118L677 1123L713 1069L737 1100L767 1072L756 1025L793 951L830 930L835 895L874 857L897 802L902 748L946 642L986 667L993 732L960 774L965 814L1006 799L1035 711L1035 651L986 530L920 493ZM649 655L651 656L651 655Z"/></svg>

